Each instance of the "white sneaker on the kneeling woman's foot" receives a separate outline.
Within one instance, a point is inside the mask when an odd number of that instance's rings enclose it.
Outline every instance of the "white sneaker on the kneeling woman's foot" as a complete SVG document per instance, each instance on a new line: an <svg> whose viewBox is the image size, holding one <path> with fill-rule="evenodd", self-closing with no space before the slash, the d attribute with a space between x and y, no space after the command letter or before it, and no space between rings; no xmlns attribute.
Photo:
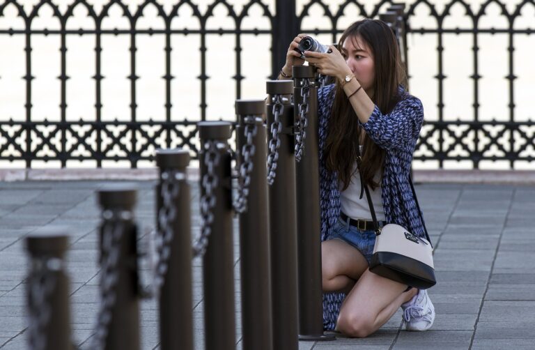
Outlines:
<svg viewBox="0 0 535 350"><path fill-rule="evenodd" d="M435 307L426 290L419 289L418 294L401 305L406 330L428 330L435 321Z"/></svg>

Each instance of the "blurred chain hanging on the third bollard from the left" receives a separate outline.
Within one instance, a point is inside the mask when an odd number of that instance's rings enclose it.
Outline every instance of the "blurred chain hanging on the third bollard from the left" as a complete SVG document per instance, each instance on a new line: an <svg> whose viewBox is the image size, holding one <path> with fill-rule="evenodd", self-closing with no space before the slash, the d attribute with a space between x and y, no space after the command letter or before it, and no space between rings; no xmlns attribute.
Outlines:
<svg viewBox="0 0 535 350"><path fill-rule="evenodd" d="M185 174L177 170L162 172L162 208L158 211L158 229L156 236L156 264L154 269L153 294L160 295L164 277L169 268L171 257L171 241L173 241L173 222L176 219L176 199L180 192L180 184Z"/></svg>

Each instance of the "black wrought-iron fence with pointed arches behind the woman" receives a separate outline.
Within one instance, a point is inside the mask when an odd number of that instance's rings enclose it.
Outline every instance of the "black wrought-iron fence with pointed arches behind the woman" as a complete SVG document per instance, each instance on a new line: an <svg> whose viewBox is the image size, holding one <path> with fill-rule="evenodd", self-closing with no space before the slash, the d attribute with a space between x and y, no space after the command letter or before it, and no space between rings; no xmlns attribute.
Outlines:
<svg viewBox="0 0 535 350"><path fill-rule="evenodd" d="M235 65L224 69L232 70L231 79L235 84L235 98L242 98L244 79L250 72L244 71L244 54L247 50L255 50L261 54L267 52L267 47L244 47L242 41L245 36L255 38L268 38L271 43L272 58L271 66L263 68L266 75L274 75L281 67L286 47L297 32L313 33L323 40L336 41L346 25L347 18L376 17L380 11L393 4L392 1L380 1L371 6L363 1L344 1L341 5L333 7L328 1L311 0L302 8L297 8L295 1L277 0L260 1L251 0L238 10L239 6L233 6L233 1L213 1L208 6L199 6L195 1L182 0L173 6L163 6L156 0L147 0L139 6L132 7L128 1L111 0L101 8L95 8L88 1L73 1L68 6L60 8L54 1L41 0L36 5L29 6L25 1L6 0L0 3L0 23L6 23L8 9L10 13L16 13L15 20L21 23L19 26L0 26L0 40L2 38L22 38L24 40L25 74L22 77L25 82L24 115L7 115L0 108L0 160L11 162L24 162L26 167L32 167L36 161L56 161L61 167L69 166L70 161L95 162L96 167L102 167L107 161L126 161L131 167L137 167L141 160L153 160L153 150L157 148L183 147L189 149L194 158L197 157L199 148L196 121L206 119L218 119L218 115L209 115L208 106L212 96L208 94L207 84L212 71L207 66L207 50L210 38L219 36L231 36L235 45ZM103 21L109 15L110 8L121 8L123 17L128 25L124 28L104 27ZM426 106L426 125L421 132L421 138L415 152L415 160L433 162L435 167L444 167L447 161L468 161L470 167L479 168L482 161L502 162L502 167L514 169L517 163L525 163L528 166L534 160L534 135L535 127L530 119L532 116L516 117L518 110L518 93L525 91L525 85L518 87L519 77L529 76L532 67L525 66L516 68L515 62L519 58L515 54L515 43L522 38L533 38L534 29L518 24L520 17L525 13L525 8L534 6L532 1L522 1L514 6L506 1L500 2L489 0L479 8L473 10L464 1L453 0L438 9L432 1L417 0L406 3L405 26L408 39L408 61L411 76L411 91L418 95L417 91L435 89L436 105ZM33 26L43 8L52 10L52 17L59 25L54 29ZM75 10L83 8L87 17L93 23L93 29L72 29L68 26L68 20L74 17ZM158 29L138 26L139 20L144 16L147 8L155 9L157 17L161 18L163 26ZM188 8L190 16L180 17L180 10ZM227 19L232 26L217 28L210 26L208 22L214 17L215 10L223 8ZM253 8L260 9L261 17L267 20L267 28L247 28L243 26L246 20L250 20L250 12ZM371 8L371 10L370 10ZM465 22L461 25L449 24L455 10L461 10ZM483 17L490 10L497 10L502 17L504 25L483 23ZM327 28L317 28L316 17L320 17ZM424 11L424 15L421 12ZM173 21L196 20L195 28L177 28ZM423 20L422 20L423 19ZM2 21L3 20L3 21ZM421 26L420 22L425 22ZM451 21L450 21L451 22ZM309 23L315 23L309 26ZM232 28L231 28L232 27ZM130 67L130 73L125 79L129 82L130 90L129 106L125 107L121 119L110 118L102 115L102 84L107 79L102 70L108 63L102 59L102 40L112 36L125 36L130 39L129 59L124 62ZM36 119L33 100L33 64L42 60L43 57L32 53L33 45L39 38L54 37L59 40L59 61L56 66L61 67L57 79L61 93L57 101L59 113L49 116L47 119ZM92 38L95 66L91 72L92 86L88 86L87 95L94 96L93 110L86 111L82 119L74 121L69 117L67 104L67 92L69 88L68 76L68 40L73 37ZM158 62L165 67L165 73L161 77L164 84L165 102L164 112L154 119L140 118L138 113L139 94L139 57L138 50L141 48L139 41L145 37L158 37L164 40L164 60ZM199 50L199 75L194 81L187 81L177 76L176 66L184 66L185 63L173 61L171 52L182 50L173 47L174 38L194 37L198 39ZM500 79L505 79L506 86L498 86L502 100L499 102L507 106L506 114L482 112L482 88L483 75L481 61L487 60L488 56L481 54L483 37L506 38L506 61L508 72ZM328 38L328 39L327 39ZM421 56L418 52L418 44L413 43L417 38L431 38L433 41L432 51L429 55ZM462 112L450 113L447 107L456 105L455 99L448 99L456 87L448 86L451 70L447 69L448 62L444 51L455 50L455 40L469 40L470 48L460 52L461 60L472 66L472 70L465 85L470 85L472 94L471 105ZM501 40L501 39L500 39ZM486 45L486 44L485 44ZM502 48L495 49L501 50ZM468 51L468 52L467 52ZM2 53L6 55L6 52ZM7 52L9 55L10 52ZM430 60L436 56L436 63ZM428 81L422 83L415 78L415 68L422 62L433 62L433 72L427 77ZM9 70L9 66L0 67L0 88L2 84L8 84L3 79L3 70ZM187 69L187 68L186 68ZM222 68L221 68L222 69ZM258 68L254 68L258 70ZM448 74L447 74L448 73ZM265 77L264 77L265 78ZM173 91L173 83L176 79L182 79L183 84L192 86L192 91L199 88L199 109L193 115L184 118L176 118L173 111L180 108L174 103L176 92ZM265 79L259 79L258 84L263 89ZM57 82L57 80L55 80ZM466 86L464 86L466 88ZM529 87L529 86L528 86ZM532 86L533 87L533 86ZM4 86L5 88L5 86ZM261 96L259 96L261 97ZM7 102L7 101L4 101ZM187 103L183 101L182 103ZM424 100L424 105L426 100ZM430 108L431 107L431 108ZM434 109L434 110L433 110ZM428 118L428 116L430 116ZM233 119L233 116L231 116ZM105 164L104 164L105 166Z"/></svg>

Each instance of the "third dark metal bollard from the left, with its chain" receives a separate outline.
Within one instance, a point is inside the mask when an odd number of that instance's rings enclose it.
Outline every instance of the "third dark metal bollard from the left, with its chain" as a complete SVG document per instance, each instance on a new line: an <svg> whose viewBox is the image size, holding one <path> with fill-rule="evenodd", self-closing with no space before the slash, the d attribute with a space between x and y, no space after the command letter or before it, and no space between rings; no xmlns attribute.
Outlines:
<svg viewBox="0 0 535 350"><path fill-rule="evenodd" d="M186 177L189 151L159 149L157 232L160 234L156 288L160 290L162 350L193 350L192 235L190 195Z"/></svg>

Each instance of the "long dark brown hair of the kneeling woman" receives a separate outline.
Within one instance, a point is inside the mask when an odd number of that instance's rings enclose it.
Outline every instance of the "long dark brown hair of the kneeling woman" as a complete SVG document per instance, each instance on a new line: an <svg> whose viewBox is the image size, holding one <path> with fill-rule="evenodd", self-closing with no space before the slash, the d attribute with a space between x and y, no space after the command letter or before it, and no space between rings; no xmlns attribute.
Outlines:
<svg viewBox="0 0 535 350"><path fill-rule="evenodd" d="M406 86L405 70L401 66L396 36L385 22L380 20L362 20L351 24L343 32L338 47L341 50L346 38L359 37L371 50L375 66L375 82L371 100L380 111L390 112L400 96L398 86ZM331 172L338 172L343 190L348 188L352 176L352 167L357 159L360 126L355 110L352 108L340 82L336 82L336 94L329 119L325 154L325 165ZM362 168L359 172L366 185L372 189L378 187L373 179L385 162L385 150L377 146L365 135L362 145Z"/></svg>

